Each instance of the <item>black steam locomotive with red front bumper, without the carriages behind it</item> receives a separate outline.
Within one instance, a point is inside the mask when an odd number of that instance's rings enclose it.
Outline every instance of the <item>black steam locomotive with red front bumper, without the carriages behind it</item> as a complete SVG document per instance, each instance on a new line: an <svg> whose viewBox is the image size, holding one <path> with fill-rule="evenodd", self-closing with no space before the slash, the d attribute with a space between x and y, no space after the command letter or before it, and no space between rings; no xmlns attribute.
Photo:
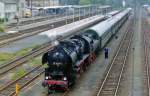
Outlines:
<svg viewBox="0 0 150 96"><path fill-rule="evenodd" d="M59 42L58 46L43 55L42 63L48 62L43 85L48 85L50 90L64 90L73 85L77 75L94 60L98 45L98 34L93 32Z"/></svg>

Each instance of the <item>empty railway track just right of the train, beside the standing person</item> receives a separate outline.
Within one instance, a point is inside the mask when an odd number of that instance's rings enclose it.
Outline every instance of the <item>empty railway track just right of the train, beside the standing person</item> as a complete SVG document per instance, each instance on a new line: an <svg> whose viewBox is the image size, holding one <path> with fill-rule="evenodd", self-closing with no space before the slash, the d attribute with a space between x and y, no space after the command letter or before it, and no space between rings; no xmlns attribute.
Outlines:
<svg viewBox="0 0 150 96"><path fill-rule="evenodd" d="M118 50L106 70L104 79L100 82L94 96L118 96L118 90L121 83L124 68L126 66L127 56L133 37L133 22L130 21L128 29L118 47Z"/></svg>

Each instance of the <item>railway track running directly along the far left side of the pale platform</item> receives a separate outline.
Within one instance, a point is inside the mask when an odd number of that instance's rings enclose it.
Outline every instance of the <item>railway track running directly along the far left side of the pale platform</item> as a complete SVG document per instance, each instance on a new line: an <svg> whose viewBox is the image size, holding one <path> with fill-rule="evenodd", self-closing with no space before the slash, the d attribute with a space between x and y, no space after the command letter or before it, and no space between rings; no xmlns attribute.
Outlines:
<svg viewBox="0 0 150 96"><path fill-rule="evenodd" d="M88 18L88 17L89 17L88 14L86 16L81 16L80 20L84 19L84 18ZM79 16L74 17L74 21L78 21L78 20L79 20ZM73 17L71 16L67 20L67 22L68 22L68 24L72 23L73 22ZM26 30L23 30L21 32L17 32L17 33L14 33L14 34L7 34L7 35L4 35L4 36L0 36L0 47L3 47L6 44L9 44L11 42L14 42L14 41L17 41L17 40L20 40L20 39L23 39L23 38L36 35L36 34L41 33L43 31L47 31L47 30L50 30L50 29L53 29L53 28L56 28L56 27L63 26L64 24L66 24L66 19L65 18L62 19L62 20L51 22L50 24L38 26L38 27L35 27L35 28L26 29ZM51 25L53 25L53 26L51 26Z"/></svg>

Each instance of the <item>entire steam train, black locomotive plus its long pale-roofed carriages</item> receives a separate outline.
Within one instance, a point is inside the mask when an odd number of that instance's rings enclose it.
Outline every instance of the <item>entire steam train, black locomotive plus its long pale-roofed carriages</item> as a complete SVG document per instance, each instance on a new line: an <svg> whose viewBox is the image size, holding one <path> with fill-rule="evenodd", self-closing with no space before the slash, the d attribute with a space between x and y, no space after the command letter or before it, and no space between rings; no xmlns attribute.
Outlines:
<svg viewBox="0 0 150 96"><path fill-rule="evenodd" d="M45 68L43 86L51 90L66 90L75 84L81 72L85 71L119 28L127 21L131 9L125 9L112 18L85 30L79 35L60 41L45 53L42 63Z"/></svg>

